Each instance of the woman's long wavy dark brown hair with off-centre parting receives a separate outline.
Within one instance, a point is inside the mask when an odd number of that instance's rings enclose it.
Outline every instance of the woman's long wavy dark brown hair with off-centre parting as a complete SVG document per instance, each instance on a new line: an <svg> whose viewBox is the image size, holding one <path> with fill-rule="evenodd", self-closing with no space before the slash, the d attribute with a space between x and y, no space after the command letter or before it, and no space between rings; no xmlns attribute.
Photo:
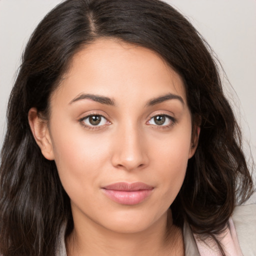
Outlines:
<svg viewBox="0 0 256 256"><path fill-rule="evenodd" d="M182 77L193 124L195 155L170 206L174 223L198 234L223 230L235 204L252 192L240 130L223 95L216 61L194 27L158 0L66 0L30 37L7 110L0 165L0 253L53 256L60 227L72 229L70 202L54 161L45 159L30 131L31 107L47 113L49 96L72 56L99 37L150 48Z"/></svg>

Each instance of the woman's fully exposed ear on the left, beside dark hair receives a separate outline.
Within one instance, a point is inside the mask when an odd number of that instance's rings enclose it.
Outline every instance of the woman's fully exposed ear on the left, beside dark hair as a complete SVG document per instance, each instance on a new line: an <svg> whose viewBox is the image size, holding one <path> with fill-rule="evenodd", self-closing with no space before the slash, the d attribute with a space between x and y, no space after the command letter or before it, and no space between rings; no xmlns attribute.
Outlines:
<svg viewBox="0 0 256 256"><path fill-rule="evenodd" d="M53 147L47 121L39 116L35 107L30 108L28 111L28 122L35 142L40 147L43 156L48 160L53 160Z"/></svg>

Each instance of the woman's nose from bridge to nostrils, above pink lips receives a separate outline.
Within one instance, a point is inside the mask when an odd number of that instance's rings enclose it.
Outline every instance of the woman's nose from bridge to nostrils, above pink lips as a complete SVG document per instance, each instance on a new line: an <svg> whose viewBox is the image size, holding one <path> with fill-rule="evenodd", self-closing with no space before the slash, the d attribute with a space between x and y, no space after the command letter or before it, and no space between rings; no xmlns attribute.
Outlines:
<svg viewBox="0 0 256 256"><path fill-rule="evenodd" d="M136 125L120 128L113 142L111 162L114 167L130 171L148 165L146 141Z"/></svg>

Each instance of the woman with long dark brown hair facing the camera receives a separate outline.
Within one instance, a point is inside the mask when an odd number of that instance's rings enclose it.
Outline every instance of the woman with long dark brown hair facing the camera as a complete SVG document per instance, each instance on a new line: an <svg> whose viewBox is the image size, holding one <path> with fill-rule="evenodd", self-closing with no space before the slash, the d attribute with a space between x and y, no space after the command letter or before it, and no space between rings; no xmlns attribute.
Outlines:
<svg viewBox="0 0 256 256"><path fill-rule="evenodd" d="M253 205L235 208L252 193L239 128L208 46L161 1L49 12L1 157L2 255L247 253L233 226L255 221Z"/></svg>

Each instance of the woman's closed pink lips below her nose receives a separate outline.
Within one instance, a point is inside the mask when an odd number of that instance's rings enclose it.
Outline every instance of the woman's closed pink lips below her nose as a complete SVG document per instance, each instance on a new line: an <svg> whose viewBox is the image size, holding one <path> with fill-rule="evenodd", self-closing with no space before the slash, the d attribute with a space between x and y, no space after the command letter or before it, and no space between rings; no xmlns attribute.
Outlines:
<svg viewBox="0 0 256 256"><path fill-rule="evenodd" d="M102 191L107 197L120 204L128 205L142 202L151 194L152 190L152 186L142 182L117 182L102 187Z"/></svg>

